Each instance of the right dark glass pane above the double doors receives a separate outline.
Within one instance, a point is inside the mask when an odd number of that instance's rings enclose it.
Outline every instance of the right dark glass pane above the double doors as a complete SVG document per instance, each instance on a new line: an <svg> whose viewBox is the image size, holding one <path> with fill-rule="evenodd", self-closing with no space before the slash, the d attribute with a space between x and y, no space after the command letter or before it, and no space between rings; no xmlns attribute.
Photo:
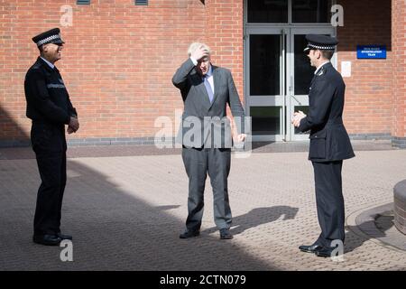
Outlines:
<svg viewBox="0 0 406 289"><path fill-rule="evenodd" d="M292 0L293 23L330 23L332 0Z"/></svg>

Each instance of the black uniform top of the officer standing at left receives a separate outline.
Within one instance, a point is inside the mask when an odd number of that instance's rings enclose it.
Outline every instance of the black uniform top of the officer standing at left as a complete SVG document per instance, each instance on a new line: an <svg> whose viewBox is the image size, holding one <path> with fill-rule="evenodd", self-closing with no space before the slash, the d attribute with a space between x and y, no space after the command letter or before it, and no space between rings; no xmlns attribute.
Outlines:
<svg viewBox="0 0 406 289"><path fill-rule="evenodd" d="M65 126L77 112L69 99L60 71L41 57L27 71L24 81L26 116L32 119L32 148L66 150Z"/></svg>

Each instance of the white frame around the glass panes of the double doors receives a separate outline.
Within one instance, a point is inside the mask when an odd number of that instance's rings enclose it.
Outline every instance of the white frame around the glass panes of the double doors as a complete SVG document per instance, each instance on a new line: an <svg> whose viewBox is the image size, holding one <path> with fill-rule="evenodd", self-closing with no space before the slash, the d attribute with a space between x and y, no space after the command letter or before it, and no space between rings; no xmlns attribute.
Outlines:
<svg viewBox="0 0 406 289"><path fill-rule="evenodd" d="M245 115L251 117L250 107L268 107L281 105L281 135L253 135L253 141L303 141L308 140L309 135L294 135L294 127L288 121L293 114L295 104L294 98L301 99L304 105L309 105L309 96L292 96L291 91L294 91L294 34L302 33L330 33L332 36L337 35L337 27L330 23L291 23L291 0L288 5L288 23L247 23L247 1L244 0L244 94L245 94ZM332 5L337 1L333 0ZM281 34L286 35L284 48L285 53L281 53L281 95L275 96L274 99L266 97L250 96L250 37L251 34ZM282 46L282 44L281 44ZM281 47L282 50L282 47ZM282 51L283 52L283 51ZM337 53L334 53L331 60L334 67L337 68ZM286 71L285 71L286 67ZM286 78L286 79L285 79ZM283 85L286 83L286 86ZM291 88L291 89L289 89ZM305 99L307 98L307 99ZM305 101L306 100L306 101ZM285 109L286 107L286 109ZM252 124L252 121L251 121Z"/></svg>

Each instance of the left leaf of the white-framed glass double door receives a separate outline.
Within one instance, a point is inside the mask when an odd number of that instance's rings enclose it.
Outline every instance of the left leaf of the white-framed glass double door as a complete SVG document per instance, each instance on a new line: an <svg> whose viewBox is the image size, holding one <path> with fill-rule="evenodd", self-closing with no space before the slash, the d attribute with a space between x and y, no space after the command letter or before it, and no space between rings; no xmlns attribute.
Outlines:
<svg viewBox="0 0 406 289"><path fill-rule="evenodd" d="M256 141L281 141L285 134L286 41L281 29L255 29L247 38L247 115Z"/></svg>

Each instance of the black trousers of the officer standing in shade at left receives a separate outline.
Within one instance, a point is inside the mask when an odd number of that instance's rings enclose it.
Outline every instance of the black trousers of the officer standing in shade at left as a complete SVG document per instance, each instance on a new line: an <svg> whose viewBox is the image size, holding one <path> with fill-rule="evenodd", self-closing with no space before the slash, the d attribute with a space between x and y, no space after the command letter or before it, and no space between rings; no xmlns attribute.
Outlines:
<svg viewBox="0 0 406 289"><path fill-rule="evenodd" d="M64 131L50 126L32 126L32 149L42 181L37 194L34 235L60 233L62 199L67 179Z"/></svg>

